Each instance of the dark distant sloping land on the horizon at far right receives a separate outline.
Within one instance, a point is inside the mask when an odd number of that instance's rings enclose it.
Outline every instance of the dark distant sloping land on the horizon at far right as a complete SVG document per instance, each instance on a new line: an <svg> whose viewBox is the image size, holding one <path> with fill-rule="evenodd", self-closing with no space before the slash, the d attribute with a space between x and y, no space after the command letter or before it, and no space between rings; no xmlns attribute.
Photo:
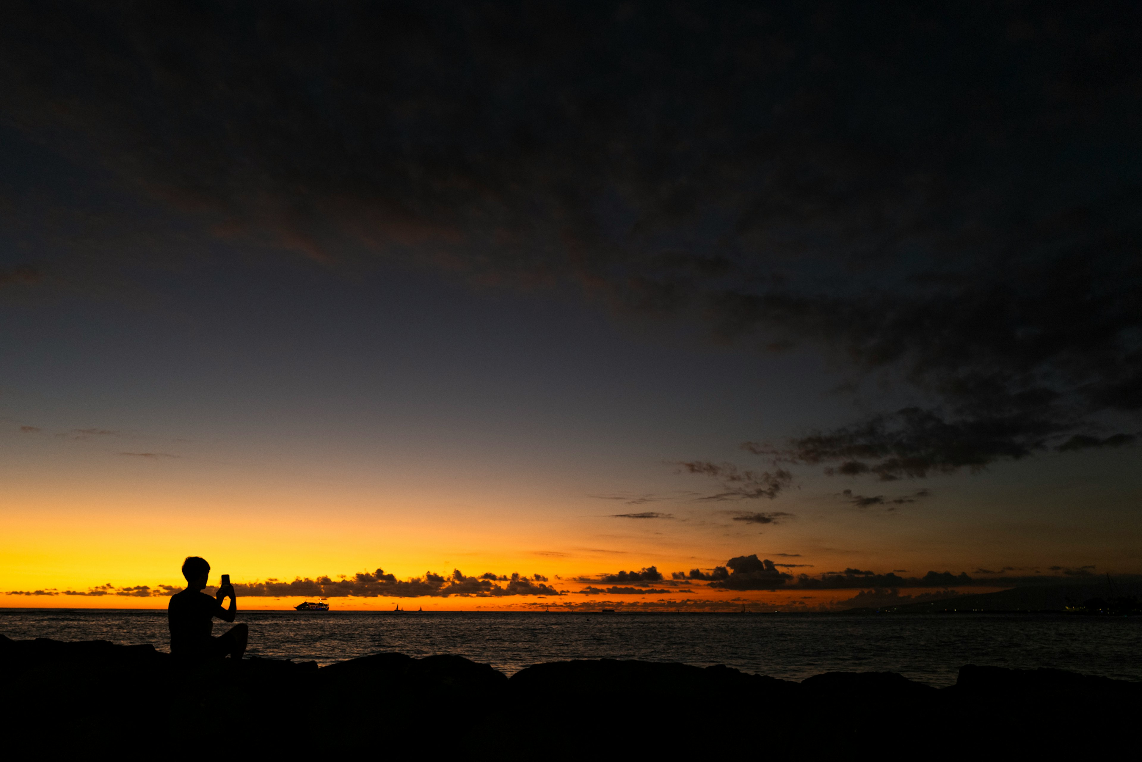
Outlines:
<svg viewBox="0 0 1142 762"><path fill-rule="evenodd" d="M899 605L866 607L849 609L844 613L943 613L952 611L1065 611L1068 607L1081 607L1091 600L1111 600L1124 596L1142 597L1142 580L1131 577L1129 581L1108 585L1102 581L1084 584L1013 587L997 593L957 595L939 601L901 603Z"/></svg>

